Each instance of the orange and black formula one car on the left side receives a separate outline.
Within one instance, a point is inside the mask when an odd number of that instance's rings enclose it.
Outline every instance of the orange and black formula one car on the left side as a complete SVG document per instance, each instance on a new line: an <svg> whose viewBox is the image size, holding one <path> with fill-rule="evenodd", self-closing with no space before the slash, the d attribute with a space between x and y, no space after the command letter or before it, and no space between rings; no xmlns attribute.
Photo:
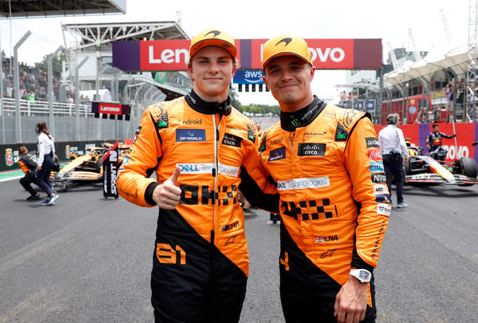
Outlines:
<svg viewBox="0 0 478 323"><path fill-rule="evenodd" d="M58 171L52 172L50 180L53 185L60 185L61 190L66 192L68 185L72 183L101 183L103 182L103 155L108 152L112 146L110 143L104 143L104 147L88 148L87 154L72 154L72 159L67 164L60 167ZM118 145L118 163L123 162L125 153L130 145Z"/></svg>

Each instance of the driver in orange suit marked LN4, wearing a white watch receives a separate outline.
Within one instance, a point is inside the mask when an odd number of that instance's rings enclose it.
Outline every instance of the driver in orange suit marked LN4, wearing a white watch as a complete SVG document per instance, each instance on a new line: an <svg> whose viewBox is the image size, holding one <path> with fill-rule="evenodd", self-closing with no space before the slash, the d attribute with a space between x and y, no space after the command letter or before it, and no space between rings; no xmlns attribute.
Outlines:
<svg viewBox="0 0 478 323"><path fill-rule="evenodd" d="M280 105L261 163L280 194L286 322L374 322L373 269L391 210L369 115L323 103L306 41L266 41L264 81Z"/></svg>

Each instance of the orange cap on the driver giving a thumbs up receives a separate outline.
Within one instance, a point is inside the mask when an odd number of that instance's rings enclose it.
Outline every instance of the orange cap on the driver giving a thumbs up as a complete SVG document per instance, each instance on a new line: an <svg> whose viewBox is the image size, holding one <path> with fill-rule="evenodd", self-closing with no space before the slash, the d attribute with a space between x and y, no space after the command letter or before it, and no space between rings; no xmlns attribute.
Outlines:
<svg viewBox="0 0 478 323"><path fill-rule="evenodd" d="M189 59L193 58L195 53L198 53L200 49L207 46L218 46L224 48L233 58L238 54L238 50L234 45L234 39L230 34L221 29L209 28L202 32L198 32L198 34L195 34L193 39L191 39Z"/></svg>

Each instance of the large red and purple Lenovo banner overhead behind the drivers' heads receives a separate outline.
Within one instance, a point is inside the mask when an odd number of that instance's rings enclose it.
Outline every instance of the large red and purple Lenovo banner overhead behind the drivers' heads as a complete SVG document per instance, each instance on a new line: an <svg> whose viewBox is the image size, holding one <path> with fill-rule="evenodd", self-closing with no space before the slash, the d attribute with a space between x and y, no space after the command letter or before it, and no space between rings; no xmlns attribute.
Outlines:
<svg viewBox="0 0 478 323"><path fill-rule="evenodd" d="M241 69L261 70L267 39L236 39ZM377 70L382 39L306 39L314 66L321 70ZM115 41L113 66L124 71L186 70L189 39Z"/></svg>

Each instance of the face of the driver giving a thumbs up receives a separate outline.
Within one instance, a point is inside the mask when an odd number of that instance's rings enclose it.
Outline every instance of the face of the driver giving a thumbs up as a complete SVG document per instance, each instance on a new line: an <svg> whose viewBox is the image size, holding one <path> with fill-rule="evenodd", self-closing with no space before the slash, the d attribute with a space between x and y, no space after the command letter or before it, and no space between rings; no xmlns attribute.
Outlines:
<svg viewBox="0 0 478 323"><path fill-rule="evenodd" d="M229 52L217 46L202 48L188 65L188 73L194 79L195 93L209 102L226 100L235 70Z"/></svg>

